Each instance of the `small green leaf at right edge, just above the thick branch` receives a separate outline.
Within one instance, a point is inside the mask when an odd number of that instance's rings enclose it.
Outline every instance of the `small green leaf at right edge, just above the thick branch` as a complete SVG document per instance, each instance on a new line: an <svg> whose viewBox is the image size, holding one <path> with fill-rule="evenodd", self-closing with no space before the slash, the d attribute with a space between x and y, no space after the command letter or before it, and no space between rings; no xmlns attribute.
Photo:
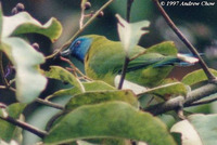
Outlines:
<svg viewBox="0 0 217 145"><path fill-rule="evenodd" d="M209 68L209 70L210 70L210 72L213 72L217 77L217 70L210 69L210 68ZM199 70L195 70L195 71L190 72L187 76L184 76L181 81L184 84L193 85L195 83L199 83L199 82L205 81L205 80L207 80L207 77L206 77L204 70L199 69Z"/></svg>

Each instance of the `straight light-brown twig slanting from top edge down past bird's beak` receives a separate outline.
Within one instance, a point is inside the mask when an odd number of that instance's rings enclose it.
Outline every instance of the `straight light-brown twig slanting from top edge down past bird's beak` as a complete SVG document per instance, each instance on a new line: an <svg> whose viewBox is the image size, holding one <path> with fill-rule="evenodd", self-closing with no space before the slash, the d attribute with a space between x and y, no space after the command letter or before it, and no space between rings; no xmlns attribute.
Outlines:
<svg viewBox="0 0 217 145"><path fill-rule="evenodd" d="M47 60L48 60L48 58L52 58L52 57L54 57L55 55L58 55L61 51L63 51L65 48L67 48L67 47L74 41L74 39L75 39L78 35L80 35L80 34L85 30L85 28L86 28L87 26L89 26L89 25L94 21L94 18L100 14L100 12L103 11L106 6L108 6L113 1L114 1L114 0L110 0L110 1L107 1L104 5L102 5L101 9L99 9L99 10L92 15L92 17L90 17L90 19L88 19L88 22L82 26L81 29L79 29L67 42L65 42L60 49L58 49L58 51L55 51L53 54L47 56L46 58L47 58Z"/></svg>

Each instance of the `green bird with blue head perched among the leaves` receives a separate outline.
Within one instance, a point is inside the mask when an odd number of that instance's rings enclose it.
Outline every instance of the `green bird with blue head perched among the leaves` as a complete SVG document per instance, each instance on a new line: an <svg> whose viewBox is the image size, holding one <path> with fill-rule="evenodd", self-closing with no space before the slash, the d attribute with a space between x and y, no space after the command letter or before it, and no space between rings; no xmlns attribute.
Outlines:
<svg viewBox="0 0 217 145"><path fill-rule="evenodd" d="M126 71L126 80L139 85L153 88L163 82L175 66L191 66L196 57L177 53L173 41L165 41L144 49L136 45L128 57L131 60ZM93 80L103 80L114 85L114 79L122 74L126 52L120 41L108 40L104 36L87 35L78 37L61 52L61 56L74 56L85 65L86 75Z"/></svg>

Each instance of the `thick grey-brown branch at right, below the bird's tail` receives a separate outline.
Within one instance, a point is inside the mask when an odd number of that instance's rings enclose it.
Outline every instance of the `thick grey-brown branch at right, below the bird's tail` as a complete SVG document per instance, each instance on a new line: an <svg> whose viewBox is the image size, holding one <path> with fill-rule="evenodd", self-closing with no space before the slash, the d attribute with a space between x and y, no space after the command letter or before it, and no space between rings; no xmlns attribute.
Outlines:
<svg viewBox="0 0 217 145"><path fill-rule="evenodd" d="M191 91L188 94L188 97L186 97L186 98L183 96L178 96L178 97L171 98L167 102L146 107L144 110L150 111L151 114L156 116L156 115L161 115L166 111L169 111L169 110L178 109L180 107L180 104L183 104L183 107L195 106L194 102L196 102L203 97L206 97L208 95L212 95L216 92L217 92L217 85L214 83L208 83L208 84L205 84L201 88L197 88L197 89Z"/></svg>

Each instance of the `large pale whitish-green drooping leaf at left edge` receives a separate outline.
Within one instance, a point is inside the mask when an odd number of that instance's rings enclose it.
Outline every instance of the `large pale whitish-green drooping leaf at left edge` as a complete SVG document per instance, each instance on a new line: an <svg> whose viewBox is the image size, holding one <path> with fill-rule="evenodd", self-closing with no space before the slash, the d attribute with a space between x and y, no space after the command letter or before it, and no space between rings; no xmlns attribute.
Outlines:
<svg viewBox="0 0 217 145"><path fill-rule="evenodd" d="M22 103L35 101L46 88L47 79L39 72L44 57L20 38L4 38L0 45L16 69L16 98Z"/></svg>

